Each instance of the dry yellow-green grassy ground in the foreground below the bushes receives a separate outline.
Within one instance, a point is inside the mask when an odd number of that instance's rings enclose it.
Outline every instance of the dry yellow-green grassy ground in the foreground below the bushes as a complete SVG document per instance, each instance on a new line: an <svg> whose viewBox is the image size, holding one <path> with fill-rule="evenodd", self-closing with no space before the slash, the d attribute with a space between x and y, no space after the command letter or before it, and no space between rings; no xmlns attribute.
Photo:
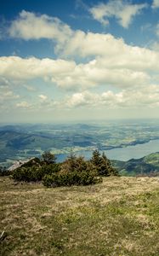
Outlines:
<svg viewBox="0 0 159 256"><path fill-rule="evenodd" d="M159 177L58 189L1 177L0 201L3 256L159 255Z"/></svg>

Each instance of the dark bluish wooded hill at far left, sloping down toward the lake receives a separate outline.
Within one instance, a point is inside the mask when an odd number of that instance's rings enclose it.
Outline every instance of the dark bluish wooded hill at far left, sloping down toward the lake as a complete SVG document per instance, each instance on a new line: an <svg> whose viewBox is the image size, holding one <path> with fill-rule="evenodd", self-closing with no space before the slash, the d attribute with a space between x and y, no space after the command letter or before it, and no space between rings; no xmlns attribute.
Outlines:
<svg viewBox="0 0 159 256"><path fill-rule="evenodd" d="M0 131L0 162L39 156L48 148L61 148L69 143L51 134L34 134L23 131Z"/></svg>

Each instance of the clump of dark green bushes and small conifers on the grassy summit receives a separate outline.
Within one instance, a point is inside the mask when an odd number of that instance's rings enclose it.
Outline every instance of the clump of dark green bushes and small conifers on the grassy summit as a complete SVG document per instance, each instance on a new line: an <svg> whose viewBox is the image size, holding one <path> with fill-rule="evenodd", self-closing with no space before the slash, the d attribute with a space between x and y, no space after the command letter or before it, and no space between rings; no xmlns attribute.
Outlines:
<svg viewBox="0 0 159 256"><path fill-rule="evenodd" d="M102 182L102 177L116 175L105 154L94 151L91 160L70 154L61 164L55 163L54 154L46 152L42 160L33 159L12 172L17 181L38 182L43 180L46 187L89 185Z"/></svg>

